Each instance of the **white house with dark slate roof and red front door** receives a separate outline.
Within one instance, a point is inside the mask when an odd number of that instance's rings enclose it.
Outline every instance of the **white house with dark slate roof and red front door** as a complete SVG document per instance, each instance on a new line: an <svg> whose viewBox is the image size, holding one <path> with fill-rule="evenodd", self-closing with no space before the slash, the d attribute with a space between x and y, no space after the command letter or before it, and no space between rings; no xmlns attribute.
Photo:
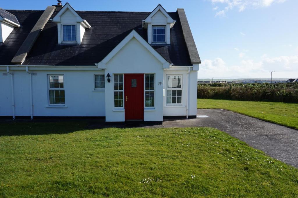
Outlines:
<svg viewBox="0 0 298 198"><path fill-rule="evenodd" d="M201 63L183 9L0 9L0 116L196 118Z"/></svg>

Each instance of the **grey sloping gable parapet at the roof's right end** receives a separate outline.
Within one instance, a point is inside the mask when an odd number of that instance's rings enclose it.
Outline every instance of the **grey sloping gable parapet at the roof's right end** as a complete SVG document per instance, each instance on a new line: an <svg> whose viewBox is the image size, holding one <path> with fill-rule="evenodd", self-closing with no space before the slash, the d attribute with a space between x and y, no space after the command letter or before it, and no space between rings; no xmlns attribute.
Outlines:
<svg viewBox="0 0 298 198"><path fill-rule="evenodd" d="M185 15L185 11L183 8L178 8L177 13L180 19L184 40L186 42L188 54L190 57L190 62L192 64L200 64L201 59L198 53L198 49L195 45L195 40L193 39L193 34L191 33L190 26Z"/></svg>

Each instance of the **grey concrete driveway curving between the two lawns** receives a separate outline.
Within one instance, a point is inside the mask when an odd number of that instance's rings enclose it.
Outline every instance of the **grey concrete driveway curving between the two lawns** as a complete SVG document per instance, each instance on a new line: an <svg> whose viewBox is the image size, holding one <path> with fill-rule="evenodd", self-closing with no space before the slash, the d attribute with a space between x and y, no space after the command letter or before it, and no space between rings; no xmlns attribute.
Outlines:
<svg viewBox="0 0 298 198"><path fill-rule="evenodd" d="M298 167L298 131L221 109L198 109L208 118L164 120L151 127L213 127L240 139L267 155Z"/></svg>

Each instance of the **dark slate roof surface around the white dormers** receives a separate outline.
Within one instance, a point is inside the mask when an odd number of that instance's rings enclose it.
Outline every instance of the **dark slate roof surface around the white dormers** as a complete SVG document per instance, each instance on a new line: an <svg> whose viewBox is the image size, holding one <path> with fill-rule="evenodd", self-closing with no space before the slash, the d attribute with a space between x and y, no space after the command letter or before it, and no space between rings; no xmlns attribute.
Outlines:
<svg viewBox="0 0 298 198"><path fill-rule="evenodd" d="M10 61L13 55L43 12L43 10L8 11L19 18L22 27L15 28L4 44L0 45L0 65L12 65ZM94 65L133 29L147 40L147 29L142 29L142 20L150 12L76 12L92 26L91 29L86 29L80 45L57 44L57 24L48 21L22 65ZM56 14L57 11L52 17ZM173 65L191 65L179 16L177 12L168 14L177 21L171 29L171 45L152 45L152 47ZM1 57L5 58L5 61Z"/></svg>

